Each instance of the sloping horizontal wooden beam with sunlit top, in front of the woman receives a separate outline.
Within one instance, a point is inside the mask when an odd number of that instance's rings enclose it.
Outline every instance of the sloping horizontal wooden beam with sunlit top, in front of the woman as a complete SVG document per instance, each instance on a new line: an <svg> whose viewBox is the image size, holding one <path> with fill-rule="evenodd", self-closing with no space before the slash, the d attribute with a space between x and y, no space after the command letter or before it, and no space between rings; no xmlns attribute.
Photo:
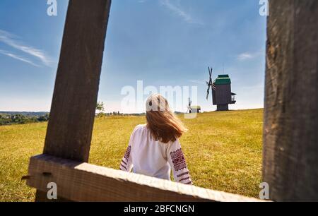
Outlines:
<svg viewBox="0 0 318 216"><path fill-rule="evenodd" d="M57 195L73 201L259 201L49 155L31 157L28 176L28 186L45 192L55 182Z"/></svg>

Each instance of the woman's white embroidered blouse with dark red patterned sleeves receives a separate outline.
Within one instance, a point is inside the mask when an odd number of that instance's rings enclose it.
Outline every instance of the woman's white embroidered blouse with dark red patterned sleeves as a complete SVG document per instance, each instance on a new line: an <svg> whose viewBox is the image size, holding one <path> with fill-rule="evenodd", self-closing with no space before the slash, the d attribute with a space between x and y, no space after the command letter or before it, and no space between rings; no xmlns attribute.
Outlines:
<svg viewBox="0 0 318 216"><path fill-rule="evenodd" d="M179 140L155 140L146 125L136 126L131 134L120 169L167 180L172 169L175 181L192 184Z"/></svg>

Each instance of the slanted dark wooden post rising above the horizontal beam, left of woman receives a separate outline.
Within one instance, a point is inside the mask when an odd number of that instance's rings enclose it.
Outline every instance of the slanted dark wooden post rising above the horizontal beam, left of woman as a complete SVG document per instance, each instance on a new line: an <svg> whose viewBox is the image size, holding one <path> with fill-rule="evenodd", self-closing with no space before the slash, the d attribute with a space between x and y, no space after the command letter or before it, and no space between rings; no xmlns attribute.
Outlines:
<svg viewBox="0 0 318 216"><path fill-rule="evenodd" d="M44 153L88 162L111 0L70 0ZM37 191L37 201L46 193Z"/></svg>

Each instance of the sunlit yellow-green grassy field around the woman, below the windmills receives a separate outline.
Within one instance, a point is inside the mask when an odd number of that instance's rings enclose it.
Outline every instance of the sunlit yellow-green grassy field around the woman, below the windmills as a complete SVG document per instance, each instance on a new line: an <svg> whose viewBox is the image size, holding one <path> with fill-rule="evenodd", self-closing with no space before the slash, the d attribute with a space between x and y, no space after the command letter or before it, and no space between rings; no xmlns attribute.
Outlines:
<svg viewBox="0 0 318 216"><path fill-rule="evenodd" d="M261 182L263 109L199 114L182 119L181 138L194 185L257 197ZM90 163L118 169L134 126L144 117L95 120ZM20 177L30 156L42 152L47 124L0 126L0 201L32 201L35 190Z"/></svg>

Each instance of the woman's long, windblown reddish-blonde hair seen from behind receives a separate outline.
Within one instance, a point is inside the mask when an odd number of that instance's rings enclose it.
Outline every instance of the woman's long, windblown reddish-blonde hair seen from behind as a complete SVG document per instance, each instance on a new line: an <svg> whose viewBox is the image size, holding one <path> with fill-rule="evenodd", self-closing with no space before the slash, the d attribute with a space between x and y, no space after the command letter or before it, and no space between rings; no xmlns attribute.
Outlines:
<svg viewBox="0 0 318 216"><path fill-rule="evenodd" d="M172 113L165 97L153 94L146 102L147 128L155 140L163 143L174 142L181 137L187 128Z"/></svg>

